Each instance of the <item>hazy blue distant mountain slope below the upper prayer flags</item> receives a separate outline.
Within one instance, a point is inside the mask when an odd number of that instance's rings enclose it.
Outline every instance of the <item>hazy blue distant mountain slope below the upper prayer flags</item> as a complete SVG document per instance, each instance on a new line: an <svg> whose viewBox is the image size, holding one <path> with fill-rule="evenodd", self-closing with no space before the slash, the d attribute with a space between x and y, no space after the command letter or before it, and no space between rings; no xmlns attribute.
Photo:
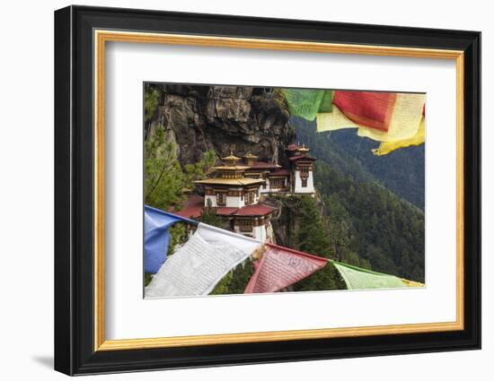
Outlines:
<svg viewBox="0 0 494 381"><path fill-rule="evenodd" d="M375 156L371 150L379 143L357 136L354 129L317 133L315 122L292 117L290 123L296 129L296 138L309 145L319 160L356 180L380 182L396 195L424 210L424 144Z"/></svg>

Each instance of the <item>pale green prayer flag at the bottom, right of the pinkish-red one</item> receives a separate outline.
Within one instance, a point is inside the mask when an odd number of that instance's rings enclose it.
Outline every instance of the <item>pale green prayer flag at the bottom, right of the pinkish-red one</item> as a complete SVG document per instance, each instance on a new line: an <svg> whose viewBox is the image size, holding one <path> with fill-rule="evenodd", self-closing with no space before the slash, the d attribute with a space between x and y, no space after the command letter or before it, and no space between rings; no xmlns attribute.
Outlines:
<svg viewBox="0 0 494 381"><path fill-rule="evenodd" d="M407 287L401 278L394 275L375 273L352 266L351 264L342 264L334 261L331 261L331 263L334 264L345 283L347 283L348 290L398 289Z"/></svg>

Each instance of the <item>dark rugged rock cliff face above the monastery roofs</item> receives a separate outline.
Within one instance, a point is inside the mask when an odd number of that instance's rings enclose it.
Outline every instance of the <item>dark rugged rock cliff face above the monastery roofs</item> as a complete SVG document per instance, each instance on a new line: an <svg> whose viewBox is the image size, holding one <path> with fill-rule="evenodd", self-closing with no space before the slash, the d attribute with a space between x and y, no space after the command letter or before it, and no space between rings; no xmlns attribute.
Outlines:
<svg viewBox="0 0 494 381"><path fill-rule="evenodd" d="M285 101L270 88L149 84L159 93L146 133L161 124L177 143L181 165L214 150L218 159L234 151L286 164L285 147L295 132Z"/></svg>

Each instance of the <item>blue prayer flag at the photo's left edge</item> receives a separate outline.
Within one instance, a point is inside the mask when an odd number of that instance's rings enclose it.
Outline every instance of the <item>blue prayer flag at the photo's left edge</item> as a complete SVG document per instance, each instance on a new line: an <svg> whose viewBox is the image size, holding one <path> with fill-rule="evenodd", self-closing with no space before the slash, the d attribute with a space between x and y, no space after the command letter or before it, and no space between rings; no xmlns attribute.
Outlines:
<svg viewBox="0 0 494 381"><path fill-rule="evenodd" d="M157 273L168 251L168 229L178 221L197 223L151 206L144 207L144 271Z"/></svg>

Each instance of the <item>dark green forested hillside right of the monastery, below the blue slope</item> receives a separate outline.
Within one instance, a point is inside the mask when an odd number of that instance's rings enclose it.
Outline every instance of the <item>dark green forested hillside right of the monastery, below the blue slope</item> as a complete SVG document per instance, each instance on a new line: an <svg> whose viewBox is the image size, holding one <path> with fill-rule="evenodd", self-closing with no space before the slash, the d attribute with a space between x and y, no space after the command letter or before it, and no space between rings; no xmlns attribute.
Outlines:
<svg viewBox="0 0 494 381"><path fill-rule="evenodd" d="M381 273L424 281L424 212L374 181L355 181L318 161L334 256Z"/></svg>

